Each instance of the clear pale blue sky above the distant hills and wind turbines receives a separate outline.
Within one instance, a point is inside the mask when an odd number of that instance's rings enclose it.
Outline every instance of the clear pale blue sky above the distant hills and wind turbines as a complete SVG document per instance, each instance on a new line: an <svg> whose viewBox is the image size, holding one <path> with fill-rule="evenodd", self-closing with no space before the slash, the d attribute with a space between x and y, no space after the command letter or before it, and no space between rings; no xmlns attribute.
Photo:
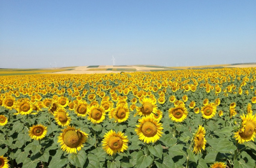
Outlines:
<svg viewBox="0 0 256 168"><path fill-rule="evenodd" d="M255 0L0 0L0 68L256 62Z"/></svg>

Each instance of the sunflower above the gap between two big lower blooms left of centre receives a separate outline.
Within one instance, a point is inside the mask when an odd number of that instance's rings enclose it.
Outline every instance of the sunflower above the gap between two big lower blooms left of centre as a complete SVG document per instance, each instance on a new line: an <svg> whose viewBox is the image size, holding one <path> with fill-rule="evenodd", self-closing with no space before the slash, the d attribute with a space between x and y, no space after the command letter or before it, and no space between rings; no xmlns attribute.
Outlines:
<svg viewBox="0 0 256 168"><path fill-rule="evenodd" d="M106 112L102 106L94 105L88 110L88 120L93 124L99 124L105 119Z"/></svg>

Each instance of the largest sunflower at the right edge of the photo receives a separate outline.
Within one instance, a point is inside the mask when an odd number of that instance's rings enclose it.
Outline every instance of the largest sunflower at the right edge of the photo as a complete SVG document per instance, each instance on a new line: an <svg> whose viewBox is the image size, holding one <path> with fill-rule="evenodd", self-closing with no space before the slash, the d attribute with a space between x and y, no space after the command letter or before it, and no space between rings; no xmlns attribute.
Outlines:
<svg viewBox="0 0 256 168"><path fill-rule="evenodd" d="M256 117L249 114L240 116L242 119L241 128L235 132L234 137L238 140L238 143L244 143L248 141L254 141L256 136Z"/></svg>

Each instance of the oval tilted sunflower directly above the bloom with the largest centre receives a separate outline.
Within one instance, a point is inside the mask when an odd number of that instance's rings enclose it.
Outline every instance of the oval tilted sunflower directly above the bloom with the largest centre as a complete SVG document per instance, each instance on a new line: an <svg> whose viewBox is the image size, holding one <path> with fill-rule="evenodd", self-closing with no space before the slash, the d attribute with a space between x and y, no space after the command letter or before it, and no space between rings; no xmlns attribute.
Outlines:
<svg viewBox="0 0 256 168"><path fill-rule="evenodd" d="M54 119L57 122L59 126L68 126L70 124L70 117L68 112L66 112L65 109L57 108L57 110L54 112Z"/></svg>

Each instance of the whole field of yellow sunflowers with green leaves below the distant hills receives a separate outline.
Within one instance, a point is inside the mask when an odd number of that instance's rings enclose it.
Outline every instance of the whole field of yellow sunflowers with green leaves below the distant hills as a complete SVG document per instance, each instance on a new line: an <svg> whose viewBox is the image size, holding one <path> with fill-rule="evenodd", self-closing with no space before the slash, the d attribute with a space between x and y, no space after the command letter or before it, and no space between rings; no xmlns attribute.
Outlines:
<svg viewBox="0 0 256 168"><path fill-rule="evenodd" d="M0 76L0 168L256 168L256 68Z"/></svg>

